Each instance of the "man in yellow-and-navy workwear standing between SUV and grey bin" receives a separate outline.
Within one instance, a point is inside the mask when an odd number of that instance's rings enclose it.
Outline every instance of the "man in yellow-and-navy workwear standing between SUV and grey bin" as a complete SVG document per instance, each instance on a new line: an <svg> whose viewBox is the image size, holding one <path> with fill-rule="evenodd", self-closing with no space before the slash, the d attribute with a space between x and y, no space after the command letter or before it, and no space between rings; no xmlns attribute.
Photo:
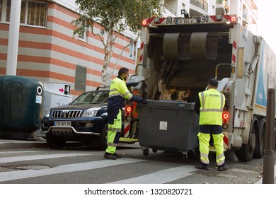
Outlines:
<svg viewBox="0 0 276 198"><path fill-rule="evenodd" d="M118 76L110 83L110 92L108 95L108 147L105 150L104 157L116 160L122 156L116 153L117 144L122 130L122 107L125 106L125 99L137 103L146 103L144 98L132 95L128 87L137 86L137 83L126 83L130 76L129 70L121 68Z"/></svg>

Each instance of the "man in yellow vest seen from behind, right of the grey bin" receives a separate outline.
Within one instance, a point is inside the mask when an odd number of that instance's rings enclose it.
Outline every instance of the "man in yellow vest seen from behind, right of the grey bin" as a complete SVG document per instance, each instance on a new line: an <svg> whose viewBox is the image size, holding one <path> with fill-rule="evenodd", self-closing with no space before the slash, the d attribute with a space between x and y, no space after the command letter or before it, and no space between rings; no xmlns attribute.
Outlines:
<svg viewBox="0 0 276 198"><path fill-rule="evenodd" d="M216 148L216 161L219 171L228 167L225 165L224 134L222 129L222 111L225 105L225 97L217 91L219 81L211 78L208 81L207 91L198 93L195 103L195 112L200 115L200 128L197 134L200 144L200 164L197 169L209 170L209 141L211 134Z"/></svg>

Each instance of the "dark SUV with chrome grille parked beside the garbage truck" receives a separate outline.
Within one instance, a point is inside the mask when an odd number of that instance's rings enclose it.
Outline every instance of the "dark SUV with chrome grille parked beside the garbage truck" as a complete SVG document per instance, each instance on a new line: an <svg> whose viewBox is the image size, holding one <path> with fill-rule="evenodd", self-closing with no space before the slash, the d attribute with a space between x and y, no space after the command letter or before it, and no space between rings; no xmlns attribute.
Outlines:
<svg viewBox="0 0 276 198"><path fill-rule="evenodd" d="M62 148L67 141L81 141L88 145L96 143L104 150L108 134L108 94L109 90L88 91L67 106L47 110L42 119L47 145Z"/></svg>

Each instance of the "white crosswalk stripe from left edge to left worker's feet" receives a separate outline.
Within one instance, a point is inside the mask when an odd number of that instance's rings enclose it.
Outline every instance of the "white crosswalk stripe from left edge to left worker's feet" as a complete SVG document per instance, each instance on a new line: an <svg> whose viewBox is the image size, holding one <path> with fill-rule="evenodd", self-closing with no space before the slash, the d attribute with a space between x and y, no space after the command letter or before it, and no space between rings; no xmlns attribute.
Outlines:
<svg viewBox="0 0 276 198"><path fill-rule="evenodd" d="M0 182L6 182L11 180L20 180L30 177L40 177L45 175L54 175L60 173L71 173L81 170L92 170L96 168L104 168L113 165L121 165L125 163L137 163L145 160L136 160L131 158L122 158L117 161L91 161L86 163L73 163L67 165L59 165L54 168L42 169L42 170L14 170L4 173L0 173Z"/></svg>

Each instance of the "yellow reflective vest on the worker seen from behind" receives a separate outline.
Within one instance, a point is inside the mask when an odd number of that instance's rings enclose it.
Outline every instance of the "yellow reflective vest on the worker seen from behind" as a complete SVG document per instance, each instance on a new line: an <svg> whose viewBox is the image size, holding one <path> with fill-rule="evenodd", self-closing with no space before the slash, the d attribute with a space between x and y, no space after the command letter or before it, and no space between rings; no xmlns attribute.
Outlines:
<svg viewBox="0 0 276 198"><path fill-rule="evenodd" d="M225 97L222 93L210 88L198 93L200 98L200 125L214 124L222 126L222 110Z"/></svg>

